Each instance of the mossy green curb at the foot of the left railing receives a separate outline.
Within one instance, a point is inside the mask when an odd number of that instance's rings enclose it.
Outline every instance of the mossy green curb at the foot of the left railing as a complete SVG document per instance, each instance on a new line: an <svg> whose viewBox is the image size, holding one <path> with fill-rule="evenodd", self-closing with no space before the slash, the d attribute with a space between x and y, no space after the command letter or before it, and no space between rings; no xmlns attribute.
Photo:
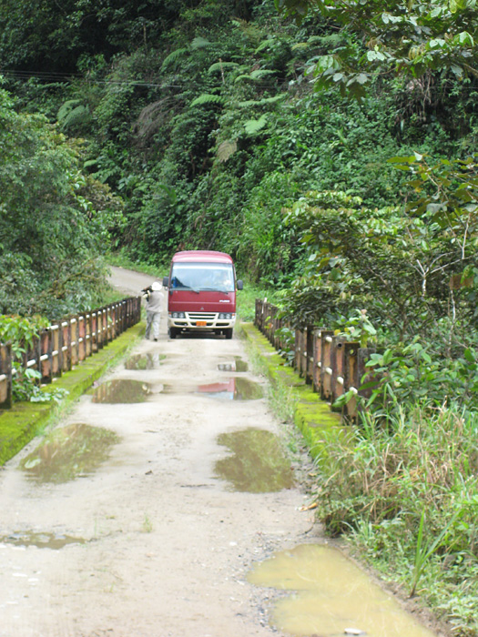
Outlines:
<svg viewBox="0 0 478 637"><path fill-rule="evenodd" d="M93 356L80 362L55 380L54 387L66 389L68 394L61 403L16 402L11 410L0 410L0 466L5 464L35 438L50 421L89 389L107 369L121 359L137 342L145 330L144 322L137 323L117 339L108 343ZM46 387L46 390L49 388Z"/></svg>

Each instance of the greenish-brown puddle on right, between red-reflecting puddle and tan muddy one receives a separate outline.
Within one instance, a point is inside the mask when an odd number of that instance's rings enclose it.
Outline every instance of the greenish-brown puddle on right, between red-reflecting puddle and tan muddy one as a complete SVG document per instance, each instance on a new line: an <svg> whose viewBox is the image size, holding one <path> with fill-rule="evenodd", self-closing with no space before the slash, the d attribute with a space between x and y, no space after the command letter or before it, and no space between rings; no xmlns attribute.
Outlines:
<svg viewBox="0 0 478 637"><path fill-rule="evenodd" d="M218 442L234 455L218 460L214 472L222 480L228 480L233 490L269 493L293 487L290 461L284 457L277 436L270 431L222 433Z"/></svg>

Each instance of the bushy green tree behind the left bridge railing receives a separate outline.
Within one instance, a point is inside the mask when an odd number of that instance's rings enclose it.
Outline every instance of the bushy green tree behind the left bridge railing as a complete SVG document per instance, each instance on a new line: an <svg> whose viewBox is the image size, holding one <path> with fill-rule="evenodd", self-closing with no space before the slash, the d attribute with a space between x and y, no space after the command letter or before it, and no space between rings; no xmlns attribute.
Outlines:
<svg viewBox="0 0 478 637"><path fill-rule="evenodd" d="M0 148L0 313L87 307L120 200L82 175L76 147L45 117L17 114L2 89Z"/></svg>

